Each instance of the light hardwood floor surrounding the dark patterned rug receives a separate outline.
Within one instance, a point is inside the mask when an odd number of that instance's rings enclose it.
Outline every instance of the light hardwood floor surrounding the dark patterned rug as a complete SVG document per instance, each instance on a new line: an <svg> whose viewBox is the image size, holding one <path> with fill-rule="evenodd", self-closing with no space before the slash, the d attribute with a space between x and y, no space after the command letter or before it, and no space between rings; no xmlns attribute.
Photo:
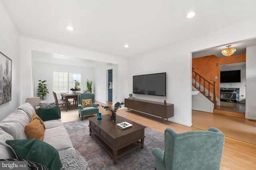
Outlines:
<svg viewBox="0 0 256 170"><path fill-rule="evenodd" d="M99 107L100 113L103 115L109 114L109 112L105 111L103 108ZM150 128L154 128L160 132L164 132L166 128L172 128L177 133L194 131L199 129L208 129L209 127L216 127L225 134L225 144L224 144L224 151L222 155L222 162L220 169L221 170L255 170L256 168L256 146L252 144L255 141L255 132L256 132L256 125L254 121L238 121L236 119L230 119L230 121L220 121L221 119L226 120L224 115L203 115L205 112L202 113L195 113L192 111L192 127L187 127L184 125L180 125L178 123L174 123L171 121L164 120L163 123L161 119L145 115L143 113L139 113L136 111L127 111L127 109L120 109L117 111L117 114L126 117L132 121L140 123ZM200 117L200 115L202 117ZM214 116L213 116L214 115ZM217 117L215 116L217 115ZM75 108L71 103L71 111L66 112L65 108L62 107L62 122L67 121L74 121L74 120L81 120L81 117L78 118L78 110ZM84 119L88 117L93 117L96 115L90 115L84 117ZM208 117L207 117L208 116ZM242 119L242 118L237 118ZM211 123L209 123L211 122ZM223 124L222 124L223 123ZM231 129L230 127L234 129ZM227 128L228 130L225 130ZM249 128L249 130L248 130ZM228 137L234 132L233 137ZM244 134L248 133L248 134ZM240 138L240 136L244 135L244 137ZM245 142L244 139L248 138L248 141L252 142ZM146 138L145 138L146 140ZM152 162L151 162L152 163Z"/></svg>

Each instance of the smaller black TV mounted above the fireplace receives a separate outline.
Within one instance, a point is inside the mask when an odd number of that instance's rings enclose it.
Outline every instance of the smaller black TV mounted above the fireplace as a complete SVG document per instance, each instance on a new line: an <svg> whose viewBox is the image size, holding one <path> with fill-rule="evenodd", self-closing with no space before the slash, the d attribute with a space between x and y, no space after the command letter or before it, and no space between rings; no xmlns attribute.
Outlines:
<svg viewBox="0 0 256 170"><path fill-rule="evenodd" d="M220 71L220 83L240 83L241 70Z"/></svg>

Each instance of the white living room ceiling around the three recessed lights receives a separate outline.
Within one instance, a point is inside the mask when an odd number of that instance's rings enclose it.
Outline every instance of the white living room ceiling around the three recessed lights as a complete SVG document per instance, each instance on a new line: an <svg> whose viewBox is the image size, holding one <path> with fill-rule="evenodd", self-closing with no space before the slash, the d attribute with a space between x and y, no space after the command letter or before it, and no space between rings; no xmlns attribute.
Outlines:
<svg viewBox="0 0 256 170"><path fill-rule="evenodd" d="M136 56L256 16L255 0L1 1L22 36L118 57ZM197 15L188 19L190 11ZM66 30L66 25L75 30ZM126 43L130 47L124 48Z"/></svg>

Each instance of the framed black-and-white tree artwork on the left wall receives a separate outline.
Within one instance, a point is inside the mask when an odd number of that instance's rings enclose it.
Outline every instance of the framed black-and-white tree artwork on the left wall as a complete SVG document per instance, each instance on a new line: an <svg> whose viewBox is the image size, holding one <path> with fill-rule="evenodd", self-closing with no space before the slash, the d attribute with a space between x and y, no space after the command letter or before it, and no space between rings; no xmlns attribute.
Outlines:
<svg viewBox="0 0 256 170"><path fill-rule="evenodd" d="M0 52L0 105L12 99L12 60Z"/></svg>

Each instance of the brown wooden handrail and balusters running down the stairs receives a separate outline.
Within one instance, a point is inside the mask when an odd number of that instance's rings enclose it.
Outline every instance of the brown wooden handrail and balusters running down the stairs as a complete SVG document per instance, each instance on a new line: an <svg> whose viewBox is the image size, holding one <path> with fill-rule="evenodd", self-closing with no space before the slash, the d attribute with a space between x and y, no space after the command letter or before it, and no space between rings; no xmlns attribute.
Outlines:
<svg viewBox="0 0 256 170"><path fill-rule="evenodd" d="M204 79L204 77L202 77L201 75L196 73L196 71L194 71L194 70L192 70L192 80L194 80L196 83L199 84L199 91L204 92L205 96L206 96L206 94L205 94L206 90L208 90L209 97L210 97L210 91L212 92L212 95L213 95L212 102L214 103L214 107L215 107L216 106L216 83L215 83L215 81L213 81L213 83L207 81L206 79ZM201 86L203 87L203 91L201 91Z"/></svg>

